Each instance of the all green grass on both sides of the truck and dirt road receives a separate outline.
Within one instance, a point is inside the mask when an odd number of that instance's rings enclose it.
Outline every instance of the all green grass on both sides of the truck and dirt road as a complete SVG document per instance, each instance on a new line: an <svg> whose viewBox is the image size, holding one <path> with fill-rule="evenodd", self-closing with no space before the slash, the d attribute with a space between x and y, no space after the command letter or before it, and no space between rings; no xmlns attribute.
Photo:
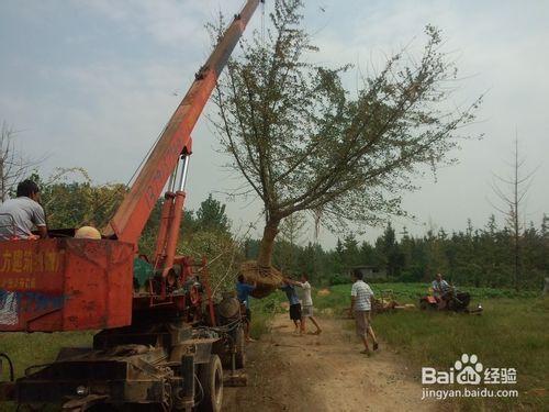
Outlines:
<svg viewBox="0 0 549 412"><path fill-rule="evenodd" d="M382 283L374 291L391 289L401 303L416 303L427 285ZM549 299L523 292L513 298L507 290L467 288L472 294L471 305L481 302L484 313L480 316L396 311L377 315L373 326L390 347L400 353L405 366L417 370L432 366L447 370L463 353L477 354L486 367L514 367L517 369L519 398L517 400L459 400L452 405L461 410L547 410L549 404ZM315 308L324 315L341 314L349 305L350 285L330 288L327 296L314 296ZM268 332L268 321L283 311L283 293L253 301L251 335L259 337ZM344 322L344 321L343 321ZM346 322L345 327L352 327ZM14 360L16 376L22 376L31 365L55 359L63 346L91 344L92 332L81 333L0 333L0 352ZM404 366L404 365L403 365ZM5 379L5 369L3 378ZM0 410L2 410L0 408Z"/></svg>

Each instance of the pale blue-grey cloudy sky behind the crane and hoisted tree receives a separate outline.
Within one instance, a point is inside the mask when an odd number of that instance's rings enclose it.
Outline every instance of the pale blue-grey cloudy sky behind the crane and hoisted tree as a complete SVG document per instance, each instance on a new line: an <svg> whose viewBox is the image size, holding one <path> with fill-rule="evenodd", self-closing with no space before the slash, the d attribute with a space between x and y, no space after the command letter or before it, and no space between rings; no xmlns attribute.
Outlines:
<svg viewBox="0 0 549 412"><path fill-rule="evenodd" d="M2 0L0 1L0 122L18 131L20 149L45 160L41 171L80 166L93 181L127 182L187 91L210 52L204 24L219 12L233 15L243 0ZM267 24L266 0L245 33ZM486 224L494 208L494 175L512 172L515 136L535 170L523 220L537 226L549 213L549 2L309 0L305 27L320 46L318 62L355 70L379 69L410 46L419 51L426 24L442 31L444 48L459 68L452 104L485 94L478 120L464 132L482 140L451 153L459 163L415 181L405 193L411 219L393 219L401 233L462 231ZM264 16L265 15L265 16ZM356 88L348 81L348 88ZM212 105L205 112L212 111ZM212 192L227 203L237 231L260 232L258 202L226 197L235 176L224 165L212 126L203 116L193 133L187 205L198 209ZM351 227L352 229L352 227ZM381 233L368 227L359 238ZM307 229L302 243L313 241ZM322 229L320 242L336 236Z"/></svg>

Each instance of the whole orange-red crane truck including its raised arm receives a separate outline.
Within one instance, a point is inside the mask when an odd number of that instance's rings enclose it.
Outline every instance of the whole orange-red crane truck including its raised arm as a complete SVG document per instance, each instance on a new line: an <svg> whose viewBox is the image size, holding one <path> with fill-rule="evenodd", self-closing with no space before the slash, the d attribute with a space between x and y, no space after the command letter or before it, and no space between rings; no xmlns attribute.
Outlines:
<svg viewBox="0 0 549 412"><path fill-rule="evenodd" d="M0 401L67 411L221 410L223 366L232 377L244 367L239 304L214 304L205 260L177 256L176 246L191 132L259 2L247 0L200 68L101 240L76 238L71 229L0 242L0 332L100 331L91 348L64 348L19 379L0 354L9 376ZM165 188L155 255L139 255Z"/></svg>

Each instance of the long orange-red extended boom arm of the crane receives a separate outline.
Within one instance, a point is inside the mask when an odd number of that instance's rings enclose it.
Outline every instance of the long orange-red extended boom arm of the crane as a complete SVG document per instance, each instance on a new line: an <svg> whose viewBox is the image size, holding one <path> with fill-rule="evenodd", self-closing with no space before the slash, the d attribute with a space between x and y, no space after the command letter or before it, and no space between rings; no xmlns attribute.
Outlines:
<svg viewBox="0 0 549 412"><path fill-rule="evenodd" d="M136 244L179 157L190 151L191 132L212 93L217 78L259 2L248 0L223 34L206 63L197 74L186 97L172 114L158 143L143 166L103 234Z"/></svg>

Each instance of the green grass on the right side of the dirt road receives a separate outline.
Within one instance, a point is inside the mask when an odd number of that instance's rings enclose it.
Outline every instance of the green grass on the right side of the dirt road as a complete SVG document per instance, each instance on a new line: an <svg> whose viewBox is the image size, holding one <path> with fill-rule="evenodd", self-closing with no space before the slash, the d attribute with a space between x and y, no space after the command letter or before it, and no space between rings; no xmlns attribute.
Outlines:
<svg viewBox="0 0 549 412"><path fill-rule="evenodd" d="M417 303L427 285L383 283L374 292L392 289L401 303ZM377 334L403 355L412 370L421 376L422 366L447 370L461 354L477 354L485 367L517 369L516 399L459 400L462 410L530 409L542 410L549 391L549 299L523 292L486 288L463 288L472 294L471 305L482 302L482 315L419 310L395 311L377 315ZM350 285L333 287L326 297L317 296L315 307L332 308L336 313L349 307ZM539 294L539 293L538 293Z"/></svg>

